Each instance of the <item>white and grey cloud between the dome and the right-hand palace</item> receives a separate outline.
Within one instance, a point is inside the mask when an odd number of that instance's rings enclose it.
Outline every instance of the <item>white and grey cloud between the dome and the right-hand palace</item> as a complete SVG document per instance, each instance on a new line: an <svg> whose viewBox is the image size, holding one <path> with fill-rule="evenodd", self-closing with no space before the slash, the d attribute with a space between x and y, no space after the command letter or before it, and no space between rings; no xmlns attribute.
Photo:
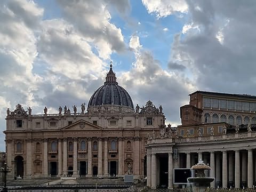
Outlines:
<svg viewBox="0 0 256 192"><path fill-rule="evenodd" d="M151 100L156 107L164 107L167 124L180 124L179 107L188 102L187 95L195 86L184 76L163 70L151 52L140 50L134 54L133 68L122 73L119 84L130 93L134 105Z"/></svg>

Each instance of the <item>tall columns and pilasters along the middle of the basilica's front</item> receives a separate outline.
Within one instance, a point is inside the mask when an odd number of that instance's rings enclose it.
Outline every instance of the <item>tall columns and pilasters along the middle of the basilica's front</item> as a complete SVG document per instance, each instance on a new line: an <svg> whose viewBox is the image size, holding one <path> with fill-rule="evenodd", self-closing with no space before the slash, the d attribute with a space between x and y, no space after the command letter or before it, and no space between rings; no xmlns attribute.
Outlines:
<svg viewBox="0 0 256 192"><path fill-rule="evenodd" d="M123 138L115 139L116 142L116 148L111 149L110 138L97 138L97 150L93 150L93 141L92 138L87 138L87 146L86 150L79 149L78 145L78 138L72 138L72 139L58 139L58 175L59 177L65 177L68 175L68 166L70 164L70 159L68 158L68 154L70 154L70 151L68 151L68 142L73 142L73 177L78 177L79 175L79 167L78 163L79 161L86 161L87 162L87 177L93 176L92 167L97 166L98 167L98 177L106 177L110 174L110 167L109 162L110 161L116 161L117 167L116 167L116 174L117 176L122 176L125 174L125 141ZM47 177L49 175L49 162L53 161L52 159L49 159L49 140L44 139L43 140L43 175ZM131 150L130 153L133 153L133 162L131 164L133 165L133 174L134 175L140 175L140 138L134 138L134 149ZM79 158L78 155L80 153L87 154L87 158ZM97 153L97 158L93 158L93 154ZM114 158L110 158L109 154L116 155ZM95 165L95 162L98 161L98 164ZM94 162L94 164L93 164ZM126 170L127 171L127 170Z"/></svg>

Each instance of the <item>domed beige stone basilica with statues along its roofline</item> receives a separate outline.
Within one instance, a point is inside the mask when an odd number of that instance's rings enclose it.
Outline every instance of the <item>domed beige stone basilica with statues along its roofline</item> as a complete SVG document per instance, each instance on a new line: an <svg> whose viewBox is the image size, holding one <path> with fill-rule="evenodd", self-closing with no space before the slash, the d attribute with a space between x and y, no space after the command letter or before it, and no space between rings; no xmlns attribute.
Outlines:
<svg viewBox="0 0 256 192"><path fill-rule="evenodd" d="M106 98L101 98L101 105L88 106L87 112L85 103L81 112L76 106L73 112L65 106L58 114L49 114L45 107L44 114L33 115L30 107L26 111L19 104L13 111L7 109L6 161L13 167L9 179L122 177L129 165L135 178L144 178L147 135L159 132L164 124L162 109L148 101L134 112L130 95L117 87L111 68L104 86ZM114 86L121 90L119 94L111 92ZM90 101L97 95L96 91ZM114 102L104 103L108 97Z"/></svg>

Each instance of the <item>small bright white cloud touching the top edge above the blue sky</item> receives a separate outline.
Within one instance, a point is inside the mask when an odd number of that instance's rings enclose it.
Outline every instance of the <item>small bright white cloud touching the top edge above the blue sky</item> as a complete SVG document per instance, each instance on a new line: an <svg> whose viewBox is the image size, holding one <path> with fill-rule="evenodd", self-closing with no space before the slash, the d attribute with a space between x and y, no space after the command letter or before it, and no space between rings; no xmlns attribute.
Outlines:
<svg viewBox="0 0 256 192"><path fill-rule="evenodd" d="M183 0L142 0L148 13L156 13L157 18L167 17L176 12L186 13L188 5Z"/></svg>

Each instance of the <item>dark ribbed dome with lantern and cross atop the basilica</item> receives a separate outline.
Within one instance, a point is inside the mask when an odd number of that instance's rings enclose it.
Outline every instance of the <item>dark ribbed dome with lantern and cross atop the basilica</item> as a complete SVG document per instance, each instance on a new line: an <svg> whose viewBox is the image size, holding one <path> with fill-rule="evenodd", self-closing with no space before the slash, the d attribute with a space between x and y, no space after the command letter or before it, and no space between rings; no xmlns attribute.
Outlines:
<svg viewBox="0 0 256 192"><path fill-rule="evenodd" d="M116 82L116 74L112 70L112 65L107 73L106 82L92 94L87 109L102 105L117 105L134 110L131 96Z"/></svg>

